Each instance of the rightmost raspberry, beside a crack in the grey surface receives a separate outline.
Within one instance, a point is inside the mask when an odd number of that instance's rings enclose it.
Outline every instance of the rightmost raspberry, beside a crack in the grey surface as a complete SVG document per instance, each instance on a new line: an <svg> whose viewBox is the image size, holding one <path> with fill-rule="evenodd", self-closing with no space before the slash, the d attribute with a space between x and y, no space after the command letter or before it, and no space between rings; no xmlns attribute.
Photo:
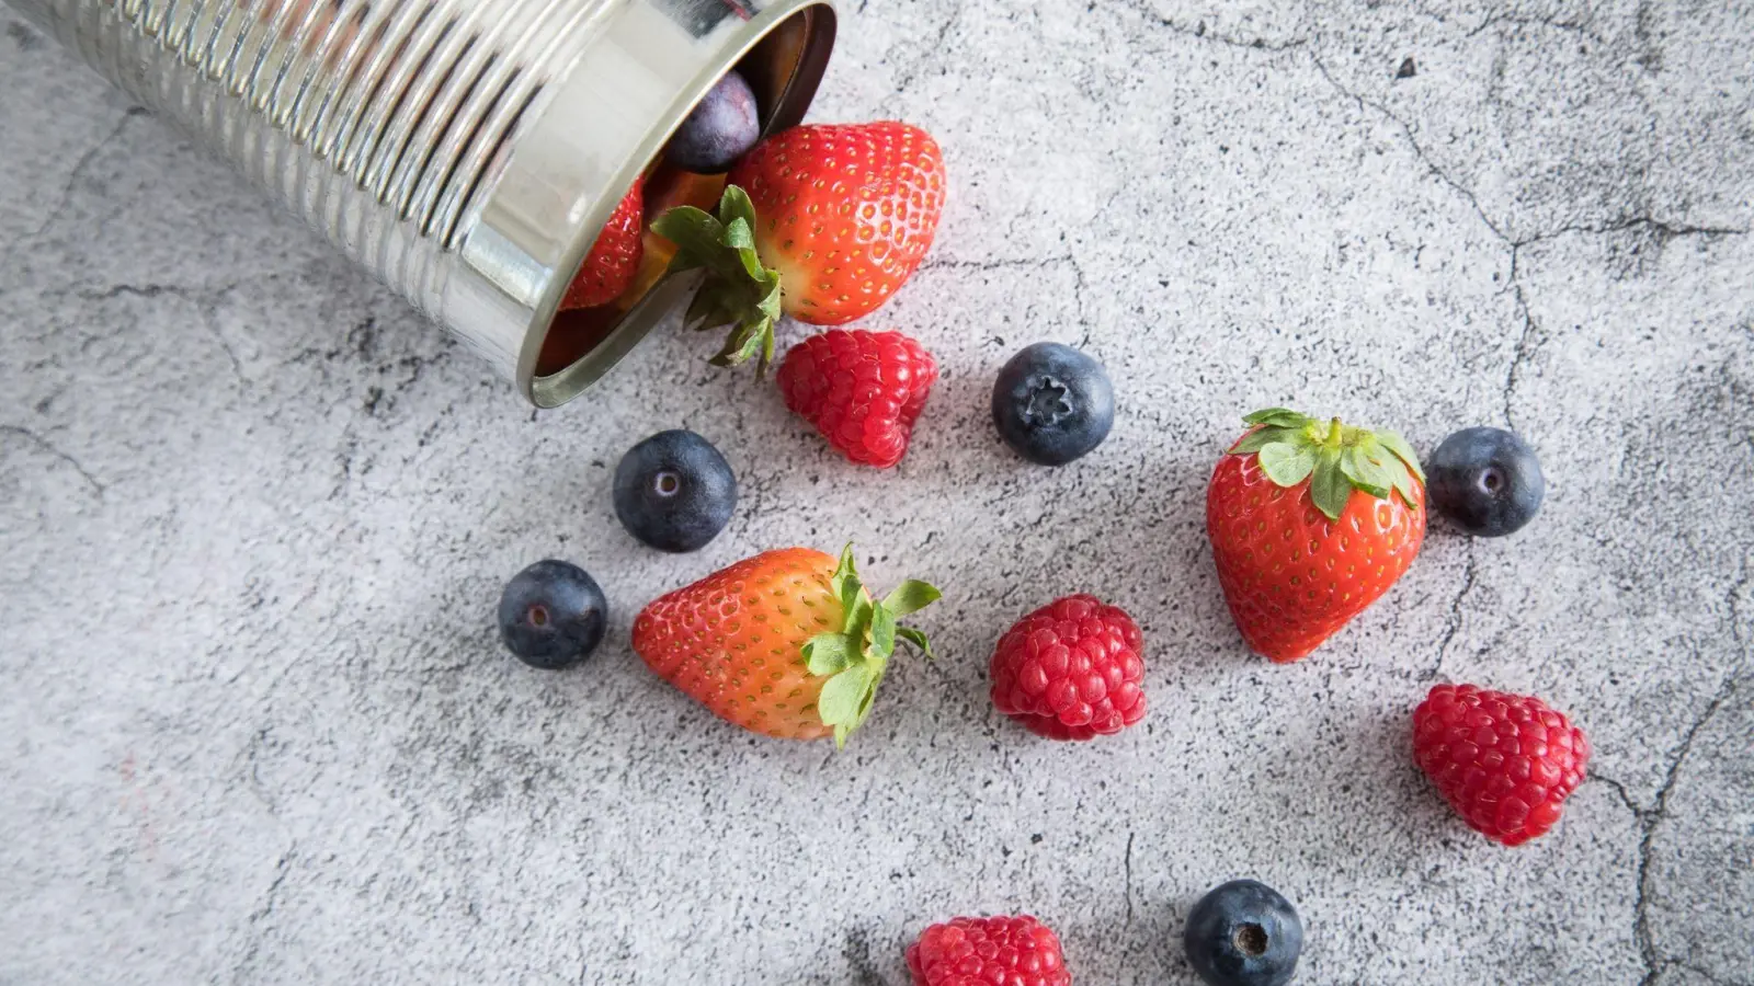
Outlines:
<svg viewBox="0 0 1754 986"><path fill-rule="evenodd" d="M1540 698L1440 684L1414 711L1414 760L1470 828L1521 846L1559 821L1589 740Z"/></svg>

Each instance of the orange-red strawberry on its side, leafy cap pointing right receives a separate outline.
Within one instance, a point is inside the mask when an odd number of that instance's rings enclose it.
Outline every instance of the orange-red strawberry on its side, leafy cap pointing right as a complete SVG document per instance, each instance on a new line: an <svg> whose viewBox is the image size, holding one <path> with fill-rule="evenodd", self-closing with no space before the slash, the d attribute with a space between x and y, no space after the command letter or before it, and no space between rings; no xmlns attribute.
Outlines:
<svg viewBox="0 0 1754 986"><path fill-rule="evenodd" d="M633 649L716 716L779 739L847 735L870 714L896 639L928 654L896 619L938 598L916 581L873 604L840 554L788 547L677 589L633 621Z"/></svg>

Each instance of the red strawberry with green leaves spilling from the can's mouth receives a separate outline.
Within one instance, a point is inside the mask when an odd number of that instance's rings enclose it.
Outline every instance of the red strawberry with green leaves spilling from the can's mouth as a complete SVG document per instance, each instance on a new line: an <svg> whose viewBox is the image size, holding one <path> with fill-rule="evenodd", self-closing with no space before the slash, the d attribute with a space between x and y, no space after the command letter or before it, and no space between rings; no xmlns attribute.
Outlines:
<svg viewBox="0 0 1754 986"><path fill-rule="evenodd" d="M689 321L737 325L716 363L774 358L774 323L844 325L877 311L919 268L944 212L944 156L905 123L795 126L756 144L717 218L672 209L652 228L707 268Z"/></svg>

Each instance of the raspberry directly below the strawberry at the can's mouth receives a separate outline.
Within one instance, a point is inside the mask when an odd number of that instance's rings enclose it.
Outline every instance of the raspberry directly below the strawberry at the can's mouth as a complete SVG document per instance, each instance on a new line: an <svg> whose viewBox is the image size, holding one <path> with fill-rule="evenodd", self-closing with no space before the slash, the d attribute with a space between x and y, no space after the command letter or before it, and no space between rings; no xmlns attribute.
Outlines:
<svg viewBox="0 0 1754 986"><path fill-rule="evenodd" d="M889 468L907 454L938 363L900 332L833 328L786 353L779 391L849 460Z"/></svg>

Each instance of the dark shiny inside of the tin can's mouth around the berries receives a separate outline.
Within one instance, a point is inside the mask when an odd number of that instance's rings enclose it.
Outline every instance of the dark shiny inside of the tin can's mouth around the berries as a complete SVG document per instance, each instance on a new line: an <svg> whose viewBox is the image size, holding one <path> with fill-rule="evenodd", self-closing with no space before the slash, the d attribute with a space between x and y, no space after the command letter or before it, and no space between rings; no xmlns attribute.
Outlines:
<svg viewBox="0 0 1754 986"><path fill-rule="evenodd" d="M826 4L803 7L777 21L740 53L728 53L731 58L702 79L700 91L679 104L674 119L663 121L663 126L654 130L661 135L656 142L658 151L661 153L668 135L730 68L737 68L754 89L763 137L795 126L816 96L833 42L835 12ZM682 204L710 209L724 189L724 175L682 172L658 160L658 153L651 154L644 174L647 223L665 209ZM591 240L595 239L593 232ZM538 342L531 379L524 384L537 405L556 407L582 393L695 288L696 275L665 274L670 253L668 242L647 230L645 260L635 286L626 295L596 309L558 312L549 321Z"/></svg>

